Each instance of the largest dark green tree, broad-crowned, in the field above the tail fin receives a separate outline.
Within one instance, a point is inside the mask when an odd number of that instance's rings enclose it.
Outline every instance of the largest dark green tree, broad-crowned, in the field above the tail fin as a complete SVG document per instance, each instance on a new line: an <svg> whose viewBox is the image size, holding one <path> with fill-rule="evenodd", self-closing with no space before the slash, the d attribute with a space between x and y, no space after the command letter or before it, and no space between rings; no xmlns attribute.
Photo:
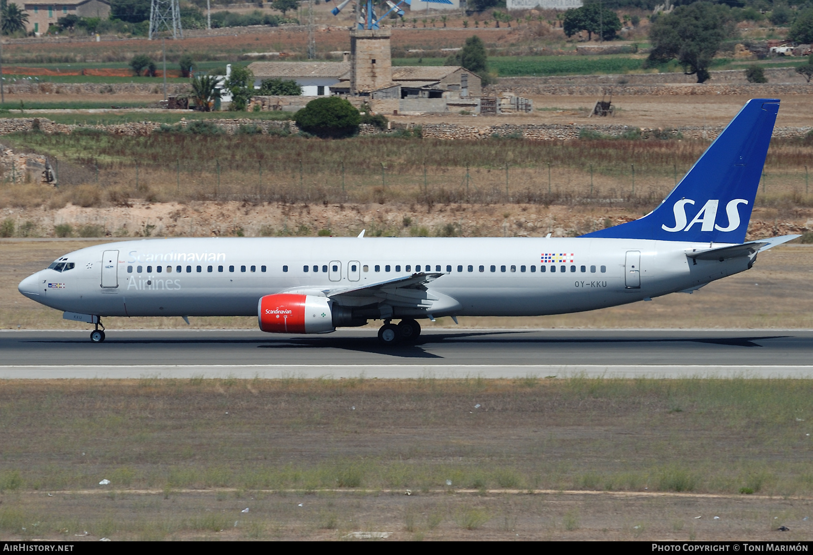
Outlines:
<svg viewBox="0 0 813 555"><path fill-rule="evenodd" d="M720 44L735 31L728 6L694 2L677 6L650 26L649 61L677 59L686 75L697 75L698 83L711 77L708 68Z"/></svg>

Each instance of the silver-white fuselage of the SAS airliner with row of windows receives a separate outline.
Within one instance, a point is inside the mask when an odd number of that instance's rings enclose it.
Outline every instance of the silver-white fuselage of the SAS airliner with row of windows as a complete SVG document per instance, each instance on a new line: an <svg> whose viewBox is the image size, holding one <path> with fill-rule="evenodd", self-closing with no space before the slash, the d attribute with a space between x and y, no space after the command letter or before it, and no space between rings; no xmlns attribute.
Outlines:
<svg viewBox="0 0 813 555"><path fill-rule="evenodd" d="M34 273L20 292L97 316L255 316L263 295L363 288L429 271L444 275L428 287L459 303L433 316L541 316L695 289L753 263L686 256L709 247L590 238L145 239L71 252L59 260L72 269Z"/></svg>

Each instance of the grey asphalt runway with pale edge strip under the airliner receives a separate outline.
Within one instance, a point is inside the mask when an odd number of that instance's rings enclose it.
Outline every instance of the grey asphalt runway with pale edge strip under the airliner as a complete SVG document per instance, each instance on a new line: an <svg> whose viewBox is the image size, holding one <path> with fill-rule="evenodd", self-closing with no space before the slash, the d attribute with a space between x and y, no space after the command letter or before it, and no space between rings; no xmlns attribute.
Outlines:
<svg viewBox="0 0 813 555"><path fill-rule="evenodd" d="M372 329L0 332L0 379L525 376L813 377L810 329L443 329L380 346Z"/></svg>

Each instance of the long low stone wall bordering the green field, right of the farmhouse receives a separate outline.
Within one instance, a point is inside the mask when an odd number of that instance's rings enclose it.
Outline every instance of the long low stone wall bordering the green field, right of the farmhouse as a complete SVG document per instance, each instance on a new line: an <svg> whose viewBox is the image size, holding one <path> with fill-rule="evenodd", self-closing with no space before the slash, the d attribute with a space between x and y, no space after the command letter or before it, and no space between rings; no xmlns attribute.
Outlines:
<svg viewBox="0 0 813 555"><path fill-rule="evenodd" d="M595 75L591 75L595 76ZM612 93L624 96L677 96L694 94L741 95L752 98L773 98L797 94L813 94L813 84L546 84L533 77L501 79L498 84L483 88L484 96L499 96L511 92L517 96L539 97L601 97Z"/></svg>

